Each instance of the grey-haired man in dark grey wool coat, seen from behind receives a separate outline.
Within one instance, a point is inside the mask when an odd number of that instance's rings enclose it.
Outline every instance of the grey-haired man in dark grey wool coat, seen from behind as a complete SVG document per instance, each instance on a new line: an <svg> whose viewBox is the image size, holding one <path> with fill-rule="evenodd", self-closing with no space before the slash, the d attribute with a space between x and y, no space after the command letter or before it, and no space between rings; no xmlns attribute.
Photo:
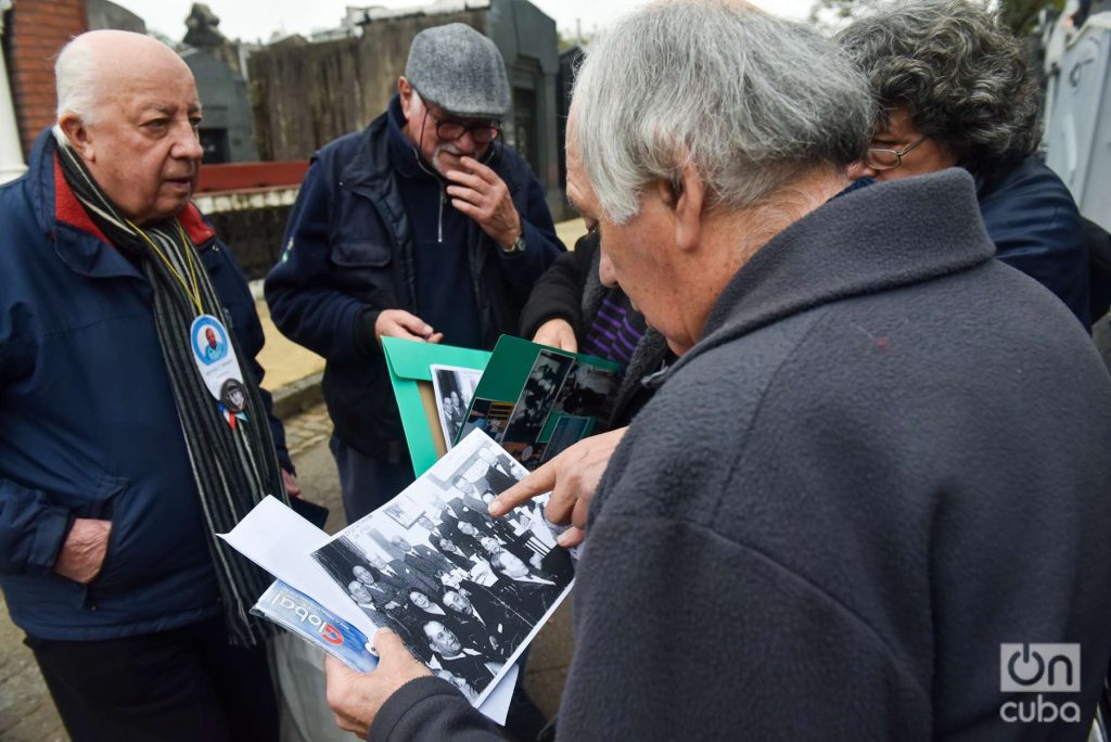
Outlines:
<svg viewBox="0 0 1111 742"><path fill-rule="evenodd" d="M843 193L872 116L832 41L745 3L653 4L591 43L568 194L680 358L590 503L560 739L1084 739L1111 380L992 260L968 172ZM1082 656L1074 692L1001 693L1022 642ZM373 673L328 664L344 728L496 739L374 646Z"/></svg>

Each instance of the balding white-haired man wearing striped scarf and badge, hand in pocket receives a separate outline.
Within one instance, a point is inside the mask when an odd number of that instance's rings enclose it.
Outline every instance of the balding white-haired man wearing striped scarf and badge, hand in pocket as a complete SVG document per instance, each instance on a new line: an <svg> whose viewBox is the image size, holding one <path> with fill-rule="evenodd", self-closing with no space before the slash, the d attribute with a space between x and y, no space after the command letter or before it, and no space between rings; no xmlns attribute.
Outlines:
<svg viewBox="0 0 1111 742"><path fill-rule="evenodd" d="M0 189L0 586L73 739L277 739L269 579L213 534L292 465L247 282L190 203L193 77L121 31L56 72Z"/></svg>

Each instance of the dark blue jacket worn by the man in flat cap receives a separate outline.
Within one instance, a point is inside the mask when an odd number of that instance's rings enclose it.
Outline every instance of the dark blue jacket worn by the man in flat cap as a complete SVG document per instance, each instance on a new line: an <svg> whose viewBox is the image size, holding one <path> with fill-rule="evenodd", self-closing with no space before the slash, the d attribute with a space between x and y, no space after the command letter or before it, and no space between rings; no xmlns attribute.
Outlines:
<svg viewBox="0 0 1111 742"><path fill-rule="evenodd" d="M281 260L266 284L278 329L328 362L323 392L337 435L372 457L386 455L389 442L402 440L373 322L384 309L416 313L410 224L437 208L403 202L390 154L389 116L313 156ZM496 142L486 164L512 194L526 250L504 254L468 220L470 275L442 290L458 293L462 282L472 283L482 347L490 349L502 333L516 334L532 284L563 245L543 189L524 160Z"/></svg>

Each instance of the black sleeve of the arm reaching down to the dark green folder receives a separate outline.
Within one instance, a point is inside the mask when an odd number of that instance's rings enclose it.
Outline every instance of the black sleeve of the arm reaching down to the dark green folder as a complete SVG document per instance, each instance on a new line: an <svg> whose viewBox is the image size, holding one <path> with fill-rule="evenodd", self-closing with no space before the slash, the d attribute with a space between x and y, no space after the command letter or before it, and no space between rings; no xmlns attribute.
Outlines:
<svg viewBox="0 0 1111 742"><path fill-rule="evenodd" d="M565 252L544 271L521 310L521 337L531 340L548 320L563 319L574 328L574 335L581 341L584 328L582 317L582 291L587 277L598 252L598 233L590 232L580 238L574 250Z"/></svg>

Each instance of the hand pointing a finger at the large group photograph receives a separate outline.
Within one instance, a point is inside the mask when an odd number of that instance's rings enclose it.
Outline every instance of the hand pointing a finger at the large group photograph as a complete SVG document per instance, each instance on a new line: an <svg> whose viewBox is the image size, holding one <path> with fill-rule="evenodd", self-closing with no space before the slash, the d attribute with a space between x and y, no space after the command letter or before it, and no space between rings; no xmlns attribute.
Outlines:
<svg viewBox="0 0 1111 742"><path fill-rule="evenodd" d="M602 472L628 428L583 439L509 488L490 502L490 514L502 515L538 494L551 492L544 511L557 525L561 547L577 547L587 538L587 513Z"/></svg>

